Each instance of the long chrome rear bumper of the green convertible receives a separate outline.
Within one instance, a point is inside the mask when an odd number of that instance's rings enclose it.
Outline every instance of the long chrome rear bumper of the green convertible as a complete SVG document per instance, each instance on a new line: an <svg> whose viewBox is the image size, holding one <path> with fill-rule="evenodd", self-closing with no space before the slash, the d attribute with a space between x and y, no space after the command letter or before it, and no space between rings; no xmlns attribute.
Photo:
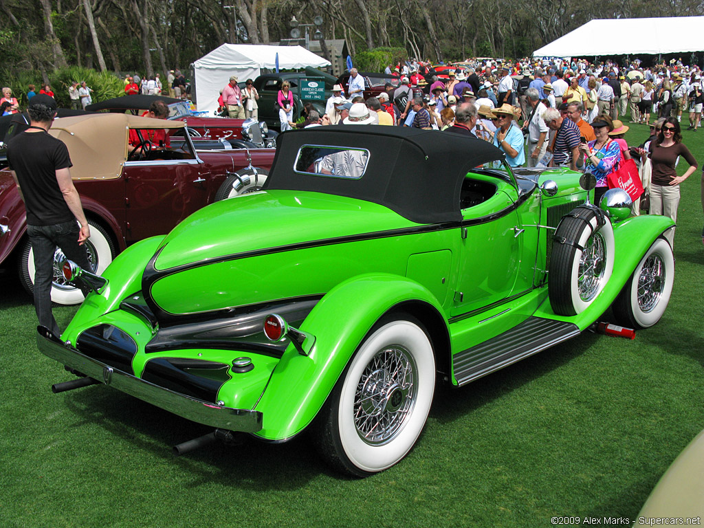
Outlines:
<svg viewBox="0 0 704 528"><path fill-rule="evenodd" d="M77 348L65 344L45 327L37 327L37 348L51 359L92 377L118 391L168 410L170 413L218 429L256 433L262 429L262 413L257 410L233 409L191 398L110 365L84 356Z"/></svg>

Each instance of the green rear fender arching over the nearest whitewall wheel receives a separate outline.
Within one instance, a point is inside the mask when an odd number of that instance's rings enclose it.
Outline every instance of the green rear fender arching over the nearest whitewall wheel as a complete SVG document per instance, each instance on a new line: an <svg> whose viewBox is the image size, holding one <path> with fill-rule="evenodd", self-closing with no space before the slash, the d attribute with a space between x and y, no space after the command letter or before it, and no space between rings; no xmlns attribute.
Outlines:
<svg viewBox="0 0 704 528"><path fill-rule="evenodd" d="M283 440L308 426L365 335L385 313L409 302L443 319L433 294L400 275L359 275L330 290L301 325L315 336L310 356L289 346L272 372L255 406L263 413L264 425L257 435Z"/></svg>

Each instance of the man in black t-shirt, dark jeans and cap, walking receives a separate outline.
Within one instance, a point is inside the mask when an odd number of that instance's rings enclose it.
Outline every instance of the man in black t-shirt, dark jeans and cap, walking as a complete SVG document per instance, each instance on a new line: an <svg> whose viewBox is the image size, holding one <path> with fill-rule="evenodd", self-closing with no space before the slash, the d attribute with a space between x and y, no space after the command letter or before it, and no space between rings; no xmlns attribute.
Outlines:
<svg viewBox="0 0 704 528"><path fill-rule="evenodd" d="M27 235L34 253L34 309L39 325L59 337L51 313L54 252L58 246L70 260L91 270L81 247L90 237L90 228L71 180L68 149L48 133L56 118L56 101L35 95L27 113L30 127L8 142L7 159L27 210Z"/></svg>

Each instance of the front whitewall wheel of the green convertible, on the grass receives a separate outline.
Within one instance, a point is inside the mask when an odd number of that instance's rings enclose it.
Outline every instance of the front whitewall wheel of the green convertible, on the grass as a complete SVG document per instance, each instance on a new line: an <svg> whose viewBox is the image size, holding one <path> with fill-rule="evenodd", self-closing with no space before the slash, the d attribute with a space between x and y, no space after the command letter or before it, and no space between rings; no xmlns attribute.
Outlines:
<svg viewBox="0 0 704 528"><path fill-rule="evenodd" d="M618 294L612 308L620 325L647 328L665 313L674 284L674 256L667 240L653 242Z"/></svg>

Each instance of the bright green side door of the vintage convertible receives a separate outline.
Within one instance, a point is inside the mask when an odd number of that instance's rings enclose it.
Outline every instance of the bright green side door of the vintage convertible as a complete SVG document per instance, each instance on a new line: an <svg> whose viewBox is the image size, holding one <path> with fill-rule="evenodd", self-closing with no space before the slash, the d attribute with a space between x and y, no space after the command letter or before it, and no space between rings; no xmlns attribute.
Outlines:
<svg viewBox="0 0 704 528"><path fill-rule="evenodd" d="M460 255L451 315L484 308L514 291L522 260L517 189L486 175L467 176L460 228Z"/></svg>

